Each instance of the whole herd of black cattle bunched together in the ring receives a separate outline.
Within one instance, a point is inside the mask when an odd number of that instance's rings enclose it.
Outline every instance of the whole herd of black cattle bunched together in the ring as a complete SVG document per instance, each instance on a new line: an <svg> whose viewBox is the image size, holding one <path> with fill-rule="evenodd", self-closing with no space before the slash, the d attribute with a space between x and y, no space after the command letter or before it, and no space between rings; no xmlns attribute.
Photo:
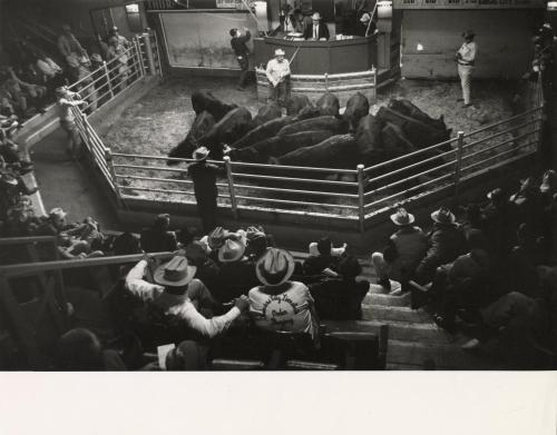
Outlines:
<svg viewBox="0 0 557 435"><path fill-rule="evenodd" d="M286 116L278 106L267 103L252 118L246 108L225 103L206 90L195 91L192 105L195 121L169 157L190 158L195 148L206 146L209 158L219 160L227 145L236 161L355 169L359 164L375 165L450 137L442 117L433 119L405 99L391 99L371 115L360 92L348 100L342 115L339 99L330 92L315 105L305 96L292 96Z"/></svg>

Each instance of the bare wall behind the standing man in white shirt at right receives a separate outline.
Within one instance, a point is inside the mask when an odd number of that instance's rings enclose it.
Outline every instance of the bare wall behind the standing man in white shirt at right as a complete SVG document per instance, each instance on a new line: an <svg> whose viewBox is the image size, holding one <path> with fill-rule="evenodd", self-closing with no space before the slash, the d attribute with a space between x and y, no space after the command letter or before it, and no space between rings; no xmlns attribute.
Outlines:
<svg viewBox="0 0 557 435"><path fill-rule="evenodd" d="M456 78L455 52L461 33L476 32L475 77L516 79L532 58L531 37L541 22L538 10L404 10L402 17L402 76ZM418 51L418 43L423 46Z"/></svg>

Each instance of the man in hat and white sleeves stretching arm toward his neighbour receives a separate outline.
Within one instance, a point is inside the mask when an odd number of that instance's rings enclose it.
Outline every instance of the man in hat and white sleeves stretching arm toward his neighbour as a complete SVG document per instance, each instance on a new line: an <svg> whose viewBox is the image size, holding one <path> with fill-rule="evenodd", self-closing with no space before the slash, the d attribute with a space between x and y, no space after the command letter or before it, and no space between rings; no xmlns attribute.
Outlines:
<svg viewBox="0 0 557 435"><path fill-rule="evenodd" d="M248 306L247 298L240 297L226 314L206 318L198 309L213 307L215 300L207 287L194 278L197 268L186 257L177 255L155 269L155 284L152 284L144 278L149 261L146 256L128 273L126 288L139 299L162 308L165 314L185 320L192 330L203 337L212 338L226 330Z"/></svg>

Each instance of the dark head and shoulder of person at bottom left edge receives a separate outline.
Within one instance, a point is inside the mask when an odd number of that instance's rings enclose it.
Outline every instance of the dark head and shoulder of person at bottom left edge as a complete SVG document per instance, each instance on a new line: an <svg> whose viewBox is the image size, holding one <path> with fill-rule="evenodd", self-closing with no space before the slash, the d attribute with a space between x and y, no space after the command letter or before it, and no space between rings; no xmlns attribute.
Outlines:
<svg viewBox="0 0 557 435"><path fill-rule="evenodd" d="M104 350L98 337L89 329L76 328L63 334L55 359L56 370L125 370L116 350Z"/></svg>

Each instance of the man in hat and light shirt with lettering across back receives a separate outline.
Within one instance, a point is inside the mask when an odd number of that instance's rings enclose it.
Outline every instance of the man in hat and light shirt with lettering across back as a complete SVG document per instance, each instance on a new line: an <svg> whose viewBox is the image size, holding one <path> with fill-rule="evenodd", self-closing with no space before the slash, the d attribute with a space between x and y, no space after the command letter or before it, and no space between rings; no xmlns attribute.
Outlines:
<svg viewBox="0 0 557 435"><path fill-rule="evenodd" d="M307 333L319 345L319 317L310 290L289 280L294 266L289 251L267 249L255 266L262 285L250 290L250 315L260 328Z"/></svg>

